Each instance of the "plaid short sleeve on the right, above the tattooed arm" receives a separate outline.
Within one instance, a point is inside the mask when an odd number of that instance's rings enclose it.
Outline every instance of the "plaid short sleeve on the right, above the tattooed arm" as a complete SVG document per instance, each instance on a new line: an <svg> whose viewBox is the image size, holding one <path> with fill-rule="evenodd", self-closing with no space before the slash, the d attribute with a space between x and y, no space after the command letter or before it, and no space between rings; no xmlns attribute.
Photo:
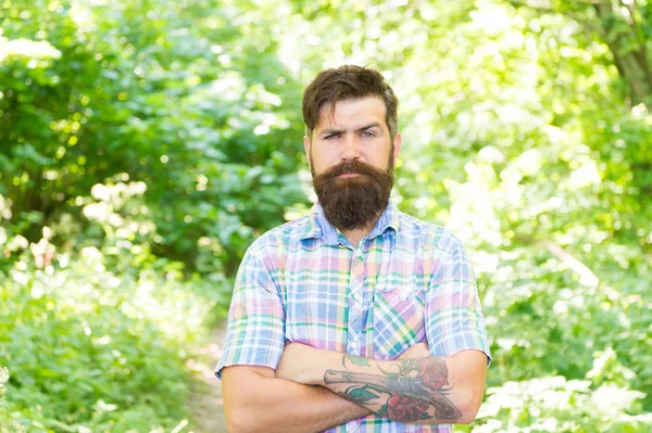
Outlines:
<svg viewBox="0 0 652 433"><path fill-rule="evenodd" d="M473 267L463 247L435 260L426 294L426 335L432 356L481 351L491 362L487 329Z"/></svg>

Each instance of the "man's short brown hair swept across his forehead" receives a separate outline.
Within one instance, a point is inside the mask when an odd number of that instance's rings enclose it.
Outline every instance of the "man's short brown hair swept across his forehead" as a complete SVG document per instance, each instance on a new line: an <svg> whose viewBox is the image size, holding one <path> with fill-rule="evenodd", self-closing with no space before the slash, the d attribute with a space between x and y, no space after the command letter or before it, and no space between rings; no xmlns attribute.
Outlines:
<svg viewBox="0 0 652 433"><path fill-rule="evenodd" d="M399 100L378 71L355 65L322 71L305 88L302 107L305 135L312 138L312 132L319 123L319 111L323 106L330 104L333 115L336 102L367 97L378 97L385 102L385 122L389 128L389 136L393 139L399 129Z"/></svg>

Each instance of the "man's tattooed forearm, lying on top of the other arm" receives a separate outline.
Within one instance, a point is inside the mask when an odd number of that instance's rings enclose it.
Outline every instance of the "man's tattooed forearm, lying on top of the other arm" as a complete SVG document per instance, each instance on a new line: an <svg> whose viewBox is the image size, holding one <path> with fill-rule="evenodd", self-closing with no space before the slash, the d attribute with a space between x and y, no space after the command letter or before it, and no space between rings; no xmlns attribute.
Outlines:
<svg viewBox="0 0 652 433"><path fill-rule="evenodd" d="M481 353L465 354L456 361L454 357L378 361L305 351L291 370L281 366L280 377L290 370L290 380L328 387L381 417L406 423L467 423L479 408L485 381L479 362L486 362Z"/></svg>

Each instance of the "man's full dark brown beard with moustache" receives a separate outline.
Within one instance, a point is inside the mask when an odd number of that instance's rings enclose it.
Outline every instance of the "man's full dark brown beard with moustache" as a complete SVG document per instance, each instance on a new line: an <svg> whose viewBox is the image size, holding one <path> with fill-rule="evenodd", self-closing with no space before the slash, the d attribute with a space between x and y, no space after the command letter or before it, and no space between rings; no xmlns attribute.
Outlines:
<svg viewBox="0 0 652 433"><path fill-rule="evenodd" d="M313 186L326 219L340 230L371 228L389 203L393 186L393 154L386 170L356 160L313 175ZM314 166L314 164L311 164ZM338 178L347 173L360 176Z"/></svg>

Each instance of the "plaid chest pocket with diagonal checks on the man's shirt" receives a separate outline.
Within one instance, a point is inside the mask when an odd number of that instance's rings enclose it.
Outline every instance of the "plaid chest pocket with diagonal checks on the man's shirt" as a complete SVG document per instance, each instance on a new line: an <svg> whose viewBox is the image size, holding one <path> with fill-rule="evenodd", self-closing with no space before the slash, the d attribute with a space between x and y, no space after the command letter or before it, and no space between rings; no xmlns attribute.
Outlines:
<svg viewBox="0 0 652 433"><path fill-rule="evenodd" d="M374 352L396 359L408 347L426 341L425 294L414 283L379 284L374 291Z"/></svg>

